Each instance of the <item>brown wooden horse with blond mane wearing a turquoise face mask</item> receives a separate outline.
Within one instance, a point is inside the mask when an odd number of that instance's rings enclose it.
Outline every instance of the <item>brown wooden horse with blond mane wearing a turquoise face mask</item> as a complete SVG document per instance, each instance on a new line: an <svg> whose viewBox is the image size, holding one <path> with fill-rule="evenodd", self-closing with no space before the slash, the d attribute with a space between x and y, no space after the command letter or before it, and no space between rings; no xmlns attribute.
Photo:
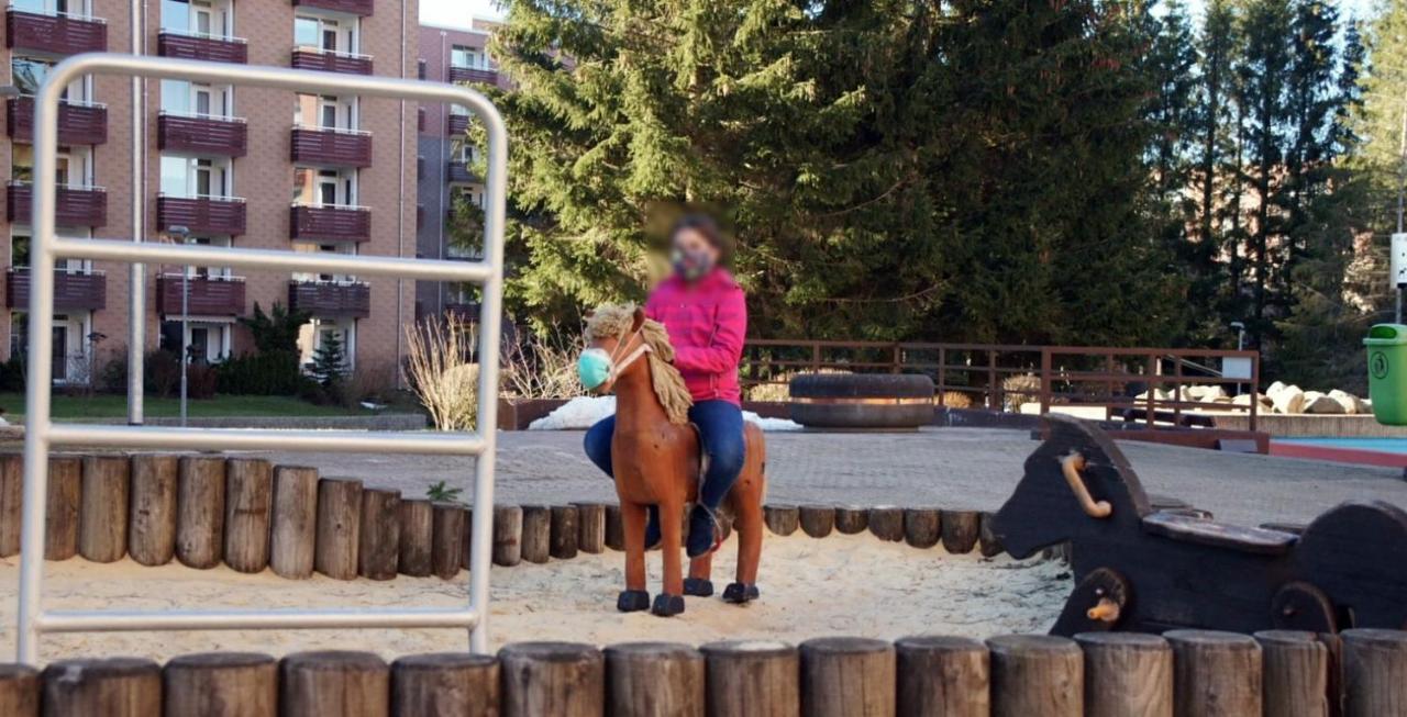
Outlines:
<svg viewBox="0 0 1407 717"><path fill-rule="evenodd" d="M615 392L616 423L611 443L611 463L620 520L625 527L625 586L616 600L622 612L650 609L668 617L684 612L684 595L708 596L712 554L689 562L689 579L682 576L684 506L698 495L702 464L699 439L688 422L692 405L680 371L674 368L674 347L664 325L647 319L633 306L605 305L587 319L587 350L608 356L609 374L592 388L597 394ZM640 358L646 360L642 361ZM757 562L763 551L763 496L767 492L764 465L767 448L763 432L744 422L746 460L743 472L720 506L734 516L737 529L736 582L723 590L723 599L747 603L758 596ZM664 586L650 605L644 585L644 527L647 509L658 506Z"/></svg>

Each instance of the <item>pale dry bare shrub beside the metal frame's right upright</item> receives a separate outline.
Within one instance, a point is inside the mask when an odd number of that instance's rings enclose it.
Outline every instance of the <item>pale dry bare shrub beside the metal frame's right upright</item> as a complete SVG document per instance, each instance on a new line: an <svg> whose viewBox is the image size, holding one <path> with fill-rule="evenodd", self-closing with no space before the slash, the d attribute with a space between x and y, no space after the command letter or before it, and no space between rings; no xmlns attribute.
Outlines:
<svg viewBox="0 0 1407 717"><path fill-rule="evenodd" d="M405 328L405 380L439 430L467 430L478 418L474 325L447 316Z"/></svg>

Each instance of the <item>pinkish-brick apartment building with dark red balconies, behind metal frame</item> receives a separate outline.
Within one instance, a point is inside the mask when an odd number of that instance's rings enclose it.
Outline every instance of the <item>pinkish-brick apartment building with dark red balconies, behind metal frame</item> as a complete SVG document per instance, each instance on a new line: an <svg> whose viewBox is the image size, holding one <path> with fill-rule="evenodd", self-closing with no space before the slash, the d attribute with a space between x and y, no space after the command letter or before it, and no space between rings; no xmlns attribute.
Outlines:
<svg viewBox="0 0 1407 717"><path fill-rule="evenodd" d="M0 235L7 270L0 351L27 340L32 100L68 55L129 52L331 72L416 77L416 0L13 0L6 11L10 89L0 142L8 166ZM435 63L432 63L435 65ZM259 249L412 256L416 252L415 103L294 94L256 87L144 80L142 233ZM86 77L68 90L59 129L59 233L134 233L132 83ZM433 108L431 108L433 111ZM431 224L431 222L425 222ZM148 349L180 346L186 267L149 266ZM82 384L125 353L128 266L69 260L55 281L55 377ZM412 281L350 276L238 276L189 270L193 351L208 360L252 350L236 318L257 301L312 314L300 349L311 357L336 332L356 367L394 366L415 319ZM106 337L93 343L96 335ZM90 357L94 357L90 360Z"/></svg>

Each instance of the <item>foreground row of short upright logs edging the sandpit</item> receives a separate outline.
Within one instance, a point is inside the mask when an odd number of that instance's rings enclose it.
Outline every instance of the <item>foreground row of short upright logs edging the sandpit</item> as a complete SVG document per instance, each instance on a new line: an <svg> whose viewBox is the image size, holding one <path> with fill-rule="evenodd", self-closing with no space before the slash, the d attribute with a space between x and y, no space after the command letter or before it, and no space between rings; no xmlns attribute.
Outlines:
<svg viewBox="0 0 1407 717"><path fill-rule="evenodd" d="M740 717L1259 716L1265 685L1303 700L1299 706L1309 710L1294 714L1399 713L1407 689L1407 631L1345 631L1349 679L1344 680L1328 679L1325 673L1334 668L1327 659L1296 659L1287 671L1282 657L1269 657L1285 645L1307 644L1297 638L1183 631L1171 638L996 635L985 642L943 635L895 642L827 637L801 645L737 640L698 648L674 642L605 648L515 642L498 655L440 652L391 664L352 651L298 652L277 661L249 652L207 652L176 657L166 665L84 658L53 662L44 671L0 664L0 711L17 717L148 716L174 709L184 714L186 707L204 706L210 696L224 696L217 702L231 711L219 714L270 716L529 716L549 709L573 716L696 714L705 700L711 714ZM1282 664L1269 664L1276 661ZM841 682L846 689L837 686ZM1207 702L1224 707L1227 697L1235 699L1235 710L1217 711ZM650 704L673 709L649 711ZM349 707L355 710L346 711Z"/></svg>

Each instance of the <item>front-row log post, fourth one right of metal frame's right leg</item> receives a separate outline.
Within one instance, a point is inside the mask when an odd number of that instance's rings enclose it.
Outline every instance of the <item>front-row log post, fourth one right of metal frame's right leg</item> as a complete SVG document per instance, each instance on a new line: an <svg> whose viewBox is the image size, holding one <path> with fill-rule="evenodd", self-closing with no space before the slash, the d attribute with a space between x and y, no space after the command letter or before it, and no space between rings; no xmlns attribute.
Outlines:
<svg viewBox="0 0 1407 717"><path fill-rule="evenodd" d="M892 717L893 645L864 637L801 644L801 711L813 717Z"/></svg>

